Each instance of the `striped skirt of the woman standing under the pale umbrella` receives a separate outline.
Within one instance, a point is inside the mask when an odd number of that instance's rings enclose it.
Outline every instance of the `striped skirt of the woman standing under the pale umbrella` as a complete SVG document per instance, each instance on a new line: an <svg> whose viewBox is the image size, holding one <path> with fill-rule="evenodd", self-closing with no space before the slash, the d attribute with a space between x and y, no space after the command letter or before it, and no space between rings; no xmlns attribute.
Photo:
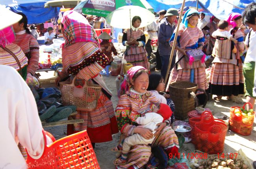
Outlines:
<svg viewBox="0 0 256 169"><path fill-rule="evenodd" d="M143 66L147 70L149 70L150 68L150 64L148 64L148 58L146 56L146 53L127 56L125 55L124 59L127 61L127 63L131 63L133 66ZM123 65L120 74L123 75Z"/></svg>

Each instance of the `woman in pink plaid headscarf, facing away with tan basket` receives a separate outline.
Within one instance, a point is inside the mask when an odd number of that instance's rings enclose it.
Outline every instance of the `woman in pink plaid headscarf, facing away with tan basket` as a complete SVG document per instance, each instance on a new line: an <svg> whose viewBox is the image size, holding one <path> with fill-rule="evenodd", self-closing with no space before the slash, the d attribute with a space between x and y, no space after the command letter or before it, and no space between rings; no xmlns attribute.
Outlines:
<svg viewBox="0 0 256 169"><path fill-rule="evenodd" d="M78 111L76 119L84 119L67 134L87 130L92 143L108 142L112 134L118 132L117 120L113 109L111 91L102 80L99 72L108 65L108 57L100 50L98 37L88 21L76 11L66 11L61 19L61 31L65 38L62 45L63 70L56 83L67 75L75 75L79 81L102 86L95 111Z"/></svg>

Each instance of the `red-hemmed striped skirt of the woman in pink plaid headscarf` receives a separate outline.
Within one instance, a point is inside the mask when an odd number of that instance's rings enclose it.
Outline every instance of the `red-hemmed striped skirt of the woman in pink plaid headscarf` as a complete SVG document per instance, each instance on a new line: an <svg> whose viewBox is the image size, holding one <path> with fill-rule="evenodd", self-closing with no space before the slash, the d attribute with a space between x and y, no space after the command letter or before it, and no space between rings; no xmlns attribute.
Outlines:
<svg viewBox="0 0 256 169"><path fill-rule="evenodd" d="M112 140L112 134L118 133L117 120L111 100L100 93L95 111L78 111L76 119L83 119L68 134L87 130L92 143L108 142Z"/></svg>

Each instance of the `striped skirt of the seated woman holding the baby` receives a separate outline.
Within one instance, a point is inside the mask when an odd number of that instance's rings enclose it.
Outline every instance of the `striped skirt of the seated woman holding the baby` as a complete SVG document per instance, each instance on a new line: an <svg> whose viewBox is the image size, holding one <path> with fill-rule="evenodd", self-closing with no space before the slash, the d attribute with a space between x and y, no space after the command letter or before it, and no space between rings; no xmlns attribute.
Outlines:
<svg viewBox="0 0 256 169"><path fill-rule="evenodd" d="M165 127L158 136L154 139L151 147L161 146L167 150L170 148L179 148L179 142L174 130L171 127ZM135 169L140 169L148 163L151 156L151 147L149 145L134 145L131 147L128 154L127 163L118 165L117 169L128 169L133 166Z"/></svg>

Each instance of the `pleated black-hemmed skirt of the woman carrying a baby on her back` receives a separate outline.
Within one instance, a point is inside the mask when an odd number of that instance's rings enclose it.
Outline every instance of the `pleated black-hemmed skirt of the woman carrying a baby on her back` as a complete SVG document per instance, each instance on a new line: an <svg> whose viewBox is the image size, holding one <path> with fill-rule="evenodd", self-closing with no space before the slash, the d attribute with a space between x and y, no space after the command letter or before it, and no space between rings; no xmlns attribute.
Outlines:
<svg viewBox="0 0 256 169"><path fill-rule="evenodd" d="M237 96L244 93L243 66L213 63L209 80L209 93L220 96Z"/></svg>

